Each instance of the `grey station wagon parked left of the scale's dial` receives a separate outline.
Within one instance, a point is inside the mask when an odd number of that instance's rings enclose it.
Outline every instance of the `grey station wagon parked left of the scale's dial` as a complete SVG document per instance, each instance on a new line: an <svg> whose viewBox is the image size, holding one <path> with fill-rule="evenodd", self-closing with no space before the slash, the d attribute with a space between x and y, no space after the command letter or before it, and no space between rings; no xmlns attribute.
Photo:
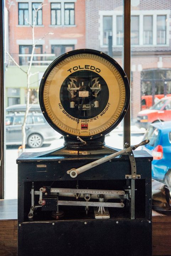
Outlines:
<svg viewBox="0 0 171 256"><path fill-rule="evenodd" d="M24 114L12 113L6 115L6 145L22 144L22 124ZM43 114L30 113L26 122L26 144L30 148L39 148L43 142L59 139L62 135L47 123Z"/></svg>

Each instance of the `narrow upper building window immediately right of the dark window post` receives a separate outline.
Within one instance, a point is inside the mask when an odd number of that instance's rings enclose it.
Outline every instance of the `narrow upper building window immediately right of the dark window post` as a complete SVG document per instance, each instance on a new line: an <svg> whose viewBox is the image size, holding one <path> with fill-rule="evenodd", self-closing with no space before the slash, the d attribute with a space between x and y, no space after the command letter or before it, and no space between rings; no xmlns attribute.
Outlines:
<svg viewBox="0 0 171 256"><path fill-rule="evenodd" d="M131 16L131 44L139 44L139 16Z"/></svg>

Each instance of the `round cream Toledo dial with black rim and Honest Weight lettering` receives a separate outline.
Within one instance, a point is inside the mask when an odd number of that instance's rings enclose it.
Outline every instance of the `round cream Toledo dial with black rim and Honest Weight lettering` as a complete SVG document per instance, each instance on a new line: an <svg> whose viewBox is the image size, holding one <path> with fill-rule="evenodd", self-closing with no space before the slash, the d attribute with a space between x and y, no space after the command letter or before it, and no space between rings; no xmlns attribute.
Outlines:
<svg viewBox="0 0 171 256"><path fill-rule="evenodd" d="M126 113L128 80L121 67L106 56L75 50L55 60L44 74L39 91L42 112L63 135L101 136Z"/></svg>

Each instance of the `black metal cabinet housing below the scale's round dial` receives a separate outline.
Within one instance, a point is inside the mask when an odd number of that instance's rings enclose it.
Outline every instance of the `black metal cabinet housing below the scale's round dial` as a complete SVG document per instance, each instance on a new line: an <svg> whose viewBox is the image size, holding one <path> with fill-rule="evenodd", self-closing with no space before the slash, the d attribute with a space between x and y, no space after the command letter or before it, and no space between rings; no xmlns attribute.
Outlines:
<svg viewBox="0 0 171 256"><path fill-rule="evenodd" d="M83 154L86 150L86 155ZM64 216L54 220L50 212L36 210L28 219L31 187L123 190L130 186L125 175L131 174L127 154L94 167L76 178L66 171L116 152L108 146L64 146L44 153L23 153L18 159L18 256L151 256L151 161L146 151L134 151L135 219L130 207L109 208L110 219L95 219L82 207L60 206ZM37 165L42 165L38 168ZM53 204L52 204L53 209Z"/></svg>

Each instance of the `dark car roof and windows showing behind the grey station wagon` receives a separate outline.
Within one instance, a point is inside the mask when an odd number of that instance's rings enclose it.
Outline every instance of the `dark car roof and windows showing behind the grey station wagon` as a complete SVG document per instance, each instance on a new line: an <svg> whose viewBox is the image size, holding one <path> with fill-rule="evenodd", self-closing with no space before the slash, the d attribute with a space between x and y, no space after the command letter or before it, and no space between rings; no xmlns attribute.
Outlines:
<svg viewBox="0 0 171 256"><path fill-rule="evenodd" d="M6 108L6 113L25 113L26 112L26 104L16 104ZM41 107L39 104L30 104L29 112L34 113L42 113Z"/></svg>

